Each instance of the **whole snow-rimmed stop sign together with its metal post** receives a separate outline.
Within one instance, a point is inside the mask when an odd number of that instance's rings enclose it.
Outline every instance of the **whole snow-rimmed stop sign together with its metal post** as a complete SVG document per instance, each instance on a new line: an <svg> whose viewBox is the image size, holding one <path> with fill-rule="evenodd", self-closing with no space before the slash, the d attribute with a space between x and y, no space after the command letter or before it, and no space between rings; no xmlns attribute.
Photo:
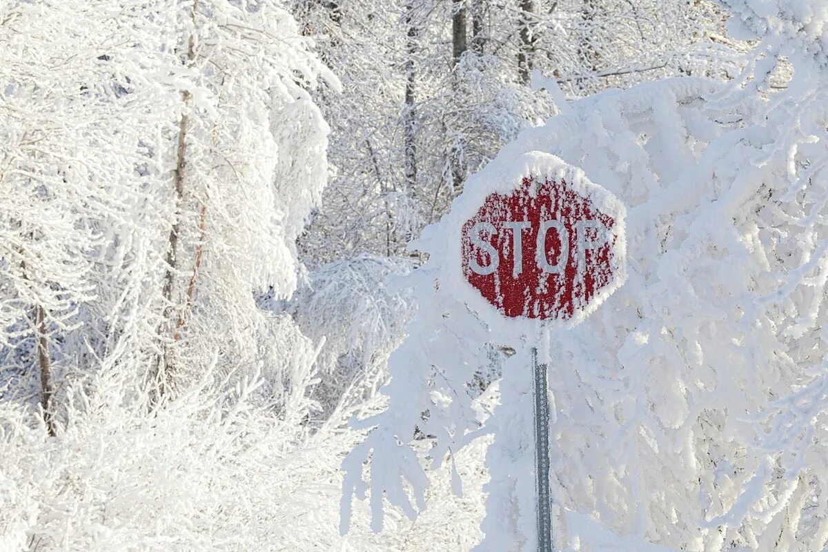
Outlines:
<svg viewBox="0 0 828 552"><path fill-rule="evenodd" d="M468 286L455 286L457 296L481 319L498 327L503 318L519 319L513 339L528 340L522 354L528 349L532 357L527 360L534 395L537 552L552 552L549 424L555 410L549 406L548 368L537 362L538 347L548 344L533 339L545 340L552 327L580 324L623 284L626 209L556 156L527 152L512 167L492 173L497 182L467 187L453 204L448 220L452 235L460 230L460 241L451 246L456 262L447 276L450 282L465 280ZM566 533L558 530L563 545Z"/></svg>

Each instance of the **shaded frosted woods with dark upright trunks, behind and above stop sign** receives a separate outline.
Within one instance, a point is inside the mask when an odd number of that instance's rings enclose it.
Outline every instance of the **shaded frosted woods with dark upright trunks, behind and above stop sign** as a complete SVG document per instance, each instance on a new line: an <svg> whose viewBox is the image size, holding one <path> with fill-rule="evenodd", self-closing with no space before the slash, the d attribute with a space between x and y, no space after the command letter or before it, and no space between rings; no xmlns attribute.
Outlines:
<svg viewBox="0 0 828 552"><path fill-rule="evenodd" d="M332 179L301 239L314 265L402 256L474 174L566 96L675 75L734 76L722 11L699 0L295 0L343 81L317 93Z"/></svg>

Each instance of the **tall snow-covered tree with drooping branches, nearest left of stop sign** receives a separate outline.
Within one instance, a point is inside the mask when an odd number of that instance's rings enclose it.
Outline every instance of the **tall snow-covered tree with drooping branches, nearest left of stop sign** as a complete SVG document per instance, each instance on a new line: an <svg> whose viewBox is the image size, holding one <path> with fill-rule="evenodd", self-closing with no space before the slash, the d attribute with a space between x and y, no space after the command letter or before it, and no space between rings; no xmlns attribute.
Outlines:
<svg viewBox="0 0 828 552"><path fill-rule="evenodd" d="M327 173L328 127L306 89L320 77L334 89L338 81L275 2L195 0L178 17L159 383L198 379L218 354L224 372L258 366L292 385L296 364L282 362L279 347L284 324L258 308L257 292L286 298L296 289L296 238Z"/></svg>

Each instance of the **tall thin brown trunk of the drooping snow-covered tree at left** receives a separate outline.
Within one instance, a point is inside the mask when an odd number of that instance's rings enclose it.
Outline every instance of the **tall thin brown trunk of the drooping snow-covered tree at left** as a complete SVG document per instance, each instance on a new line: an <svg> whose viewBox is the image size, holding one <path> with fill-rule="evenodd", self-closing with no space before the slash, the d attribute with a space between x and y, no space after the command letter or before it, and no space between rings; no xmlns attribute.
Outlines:
<svg viewBox="0 0 828 552"><path fill-rule="evenodd" d="M195 26L195 13L198 10L199 0L193 0L190 8L190 20ZM195 36L190 35L187 41L187 53L185 56L185 65L192 65L195 60ZM173 319L176 318L176 301L173 293L176 287L176 275L181 273L181 261L183 255L181 254L181 221L183 218L184 198L185 198L185 170L187 165L187 129L189 127L190 118L189 110L192 103L192 94L189 90L181 92L181 101L184 105L184 111L181 114L181 119L178 122L178 140L176 143L176 168L173 171L173 184L175 185L176 195L176 219L172 224L170 230L170 238L167 241L166 250L166 274L164 275L164 288L161 295L164 298L164 314L161 326L161 337L164 339L161 344L162 352L158 359L156 372L153 374L153 385L156 396L153 397L153 402L161 400L163 396L170 391L171 377L176 372L175 348L176 342L180 338L178 330L180 324L176 323L176 329L173 330ZM178 319L184 314L179 314ZM167 338L171 337L171 340Z"/></svg>

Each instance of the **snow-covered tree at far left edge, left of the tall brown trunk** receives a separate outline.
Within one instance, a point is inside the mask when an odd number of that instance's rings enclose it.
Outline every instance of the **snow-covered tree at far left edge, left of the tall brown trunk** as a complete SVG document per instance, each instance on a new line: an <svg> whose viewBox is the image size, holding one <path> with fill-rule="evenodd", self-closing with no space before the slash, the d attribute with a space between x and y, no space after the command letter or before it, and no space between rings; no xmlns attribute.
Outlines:
<svg viewBox="0 0 828 552"><path fill-rule="evenodd" d="M74 2L75 17L53 4L3 7L2 395L40 396L52 433L53 397L72 375L148 360L146 227L160 222L144 207L158 165L149 144L174 101L147 79L171 60L162 7Z"/></svg>

